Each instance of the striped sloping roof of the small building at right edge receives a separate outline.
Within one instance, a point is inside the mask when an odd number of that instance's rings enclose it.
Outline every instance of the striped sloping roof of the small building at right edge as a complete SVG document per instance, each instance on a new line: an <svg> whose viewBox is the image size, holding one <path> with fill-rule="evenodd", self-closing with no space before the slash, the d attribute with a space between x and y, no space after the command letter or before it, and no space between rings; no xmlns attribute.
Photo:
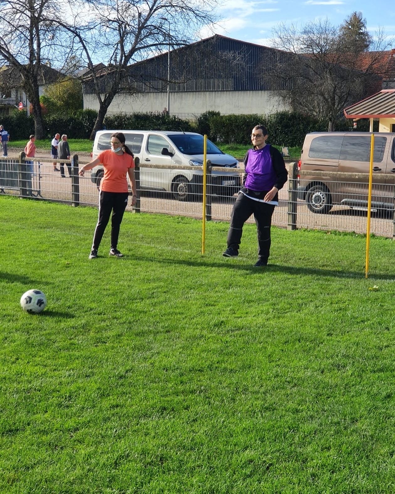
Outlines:
<svg viewBox="0 0 395 494"><path fill-rule="evenodd" d="M383 89L344 109L346 119L395 118L395 89Z"/></svg>

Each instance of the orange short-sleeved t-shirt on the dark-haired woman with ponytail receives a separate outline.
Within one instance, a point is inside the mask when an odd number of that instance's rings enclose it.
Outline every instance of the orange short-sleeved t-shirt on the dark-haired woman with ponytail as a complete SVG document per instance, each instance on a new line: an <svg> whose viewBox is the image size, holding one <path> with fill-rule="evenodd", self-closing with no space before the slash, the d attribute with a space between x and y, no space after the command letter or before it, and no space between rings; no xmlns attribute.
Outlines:
<svg viewBox="0 0 395 494"><path fill-rule="evenodd" d="M117 155L108 149L98 156L104 167L104 176L100 182L100 190L104 192L128 192L127 170L134 168L133 158L123 153Z"/></svg>

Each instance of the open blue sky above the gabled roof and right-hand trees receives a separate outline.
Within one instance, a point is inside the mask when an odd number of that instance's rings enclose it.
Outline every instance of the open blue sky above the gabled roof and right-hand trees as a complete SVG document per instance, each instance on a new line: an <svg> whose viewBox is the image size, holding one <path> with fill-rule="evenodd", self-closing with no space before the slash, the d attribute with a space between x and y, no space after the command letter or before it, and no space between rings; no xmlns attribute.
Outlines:
<svg viewBox="0 0 395 494"><path fill-rule="evenodd" d="M395 47L395 7L390 1L376 0L224 0L217 13L223 20L200 33L213 32L241 41L270 45L272 29L279 23L298 27L318 18L339 26L354 11L362 12L371 36L381 28ZM394 41L393 41L394 40Z"/></svg>

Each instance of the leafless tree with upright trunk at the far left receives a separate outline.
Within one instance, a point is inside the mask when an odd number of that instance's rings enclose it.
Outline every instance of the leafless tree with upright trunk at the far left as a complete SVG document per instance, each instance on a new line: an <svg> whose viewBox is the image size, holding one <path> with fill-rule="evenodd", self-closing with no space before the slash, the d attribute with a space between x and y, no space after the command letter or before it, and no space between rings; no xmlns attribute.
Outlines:
<svg viewBox="0 0 395 494"><path fill-rule="evenodd" d="M35 120L35 134L44 137L39 82L45 80L56 32L48 12L60 12L58 0L1 0L0 57L8 67L2 72L9 87L21 82ZM53 82L53 79L52 81Z"/></svg>

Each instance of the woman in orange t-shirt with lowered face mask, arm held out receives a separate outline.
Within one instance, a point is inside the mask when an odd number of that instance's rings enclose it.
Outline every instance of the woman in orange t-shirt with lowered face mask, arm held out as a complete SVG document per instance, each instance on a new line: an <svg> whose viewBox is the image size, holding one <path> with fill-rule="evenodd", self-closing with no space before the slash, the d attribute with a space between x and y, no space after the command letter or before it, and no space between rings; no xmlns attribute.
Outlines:
<svg viewBox="0 0 395 494"><path fill-rule="evenodd" d="M119 227L129 196L126 175L129 177L133 194L132 206L136 204L133 153L125 145L125 136L122 132L112 134L110 144L111 149L103 151L96 159L82 166L79 170L79 175L83 177L85 171L91 170L100 163L104 167L104 176L100 182L99 219L93 236L89 259L97 257L97 250L109 222L111 212L113 212L113 215L111 217L111 248L109 255L122 257L117 247Z"/></svg>

